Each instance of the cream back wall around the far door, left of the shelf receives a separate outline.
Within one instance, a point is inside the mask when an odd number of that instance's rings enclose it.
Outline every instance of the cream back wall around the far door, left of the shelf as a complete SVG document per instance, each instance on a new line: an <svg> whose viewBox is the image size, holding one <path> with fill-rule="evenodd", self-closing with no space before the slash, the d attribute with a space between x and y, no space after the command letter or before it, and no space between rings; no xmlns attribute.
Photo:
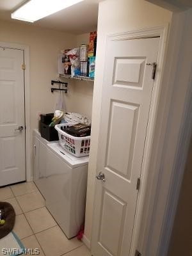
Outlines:
<svg viewBox="0 0 192 256"><path fill-rule="evenodd" d="M1 42L28 45L30 51L31 134L38 126L37 113L54 111L57 93L51 93L51 79L58 79L57 60L61 49L76 46L76 36L17 22L0 21ZM74 86L65 95L67 111L73 106ZM31 152L32 153L32 152ZM32 154L31 154L32 155ZM32 173L31 173L32 174Z"/></svg>

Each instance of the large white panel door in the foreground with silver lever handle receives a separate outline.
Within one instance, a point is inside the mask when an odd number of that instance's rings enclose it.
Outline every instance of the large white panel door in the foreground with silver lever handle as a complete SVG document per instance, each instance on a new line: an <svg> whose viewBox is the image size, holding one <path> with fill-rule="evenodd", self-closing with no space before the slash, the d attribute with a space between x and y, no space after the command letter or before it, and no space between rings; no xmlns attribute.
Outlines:
<svg viewBox="0 0 192 256"><path fill-rule="evenodd" d="M94 256L130 255L159 38L108 40L92 233ZM133 256L133 255L131 255Z"/></svg>

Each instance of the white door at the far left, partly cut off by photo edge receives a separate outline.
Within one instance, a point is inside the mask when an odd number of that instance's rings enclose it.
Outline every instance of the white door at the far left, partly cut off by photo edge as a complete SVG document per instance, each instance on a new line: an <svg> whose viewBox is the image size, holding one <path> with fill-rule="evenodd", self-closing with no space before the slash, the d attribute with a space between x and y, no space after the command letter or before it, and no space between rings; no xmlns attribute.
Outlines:
<svg viewBox="0 0 192 256"><path fill-rule="evenodd" d="M0 186L26 179L23 63L23 51L0 47Z"/></svg>

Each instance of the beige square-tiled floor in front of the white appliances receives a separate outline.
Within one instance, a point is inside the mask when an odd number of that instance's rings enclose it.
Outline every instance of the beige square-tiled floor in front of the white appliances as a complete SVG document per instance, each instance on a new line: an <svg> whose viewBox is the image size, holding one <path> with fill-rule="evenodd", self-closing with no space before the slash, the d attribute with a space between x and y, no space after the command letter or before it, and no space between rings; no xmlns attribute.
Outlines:
<svg viewBox="0 0 192 256"><path fill-rule="evenodd" d="M0 201L13 205L16 213L13 231L26 248L39 248L41 256L91 256L76 237L67 239L33 182L0 188Z"/></svg>

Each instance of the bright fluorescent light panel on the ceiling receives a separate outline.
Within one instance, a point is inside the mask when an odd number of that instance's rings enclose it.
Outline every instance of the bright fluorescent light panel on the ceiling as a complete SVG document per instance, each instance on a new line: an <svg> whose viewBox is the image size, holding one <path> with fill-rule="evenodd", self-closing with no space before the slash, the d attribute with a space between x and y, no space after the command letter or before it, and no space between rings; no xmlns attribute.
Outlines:
<svg viewBox="0 0 192 256"><path fill-rule="evenodd" d="M31 0L12 13L12 19L34 22L83 0Z"/></svg>

